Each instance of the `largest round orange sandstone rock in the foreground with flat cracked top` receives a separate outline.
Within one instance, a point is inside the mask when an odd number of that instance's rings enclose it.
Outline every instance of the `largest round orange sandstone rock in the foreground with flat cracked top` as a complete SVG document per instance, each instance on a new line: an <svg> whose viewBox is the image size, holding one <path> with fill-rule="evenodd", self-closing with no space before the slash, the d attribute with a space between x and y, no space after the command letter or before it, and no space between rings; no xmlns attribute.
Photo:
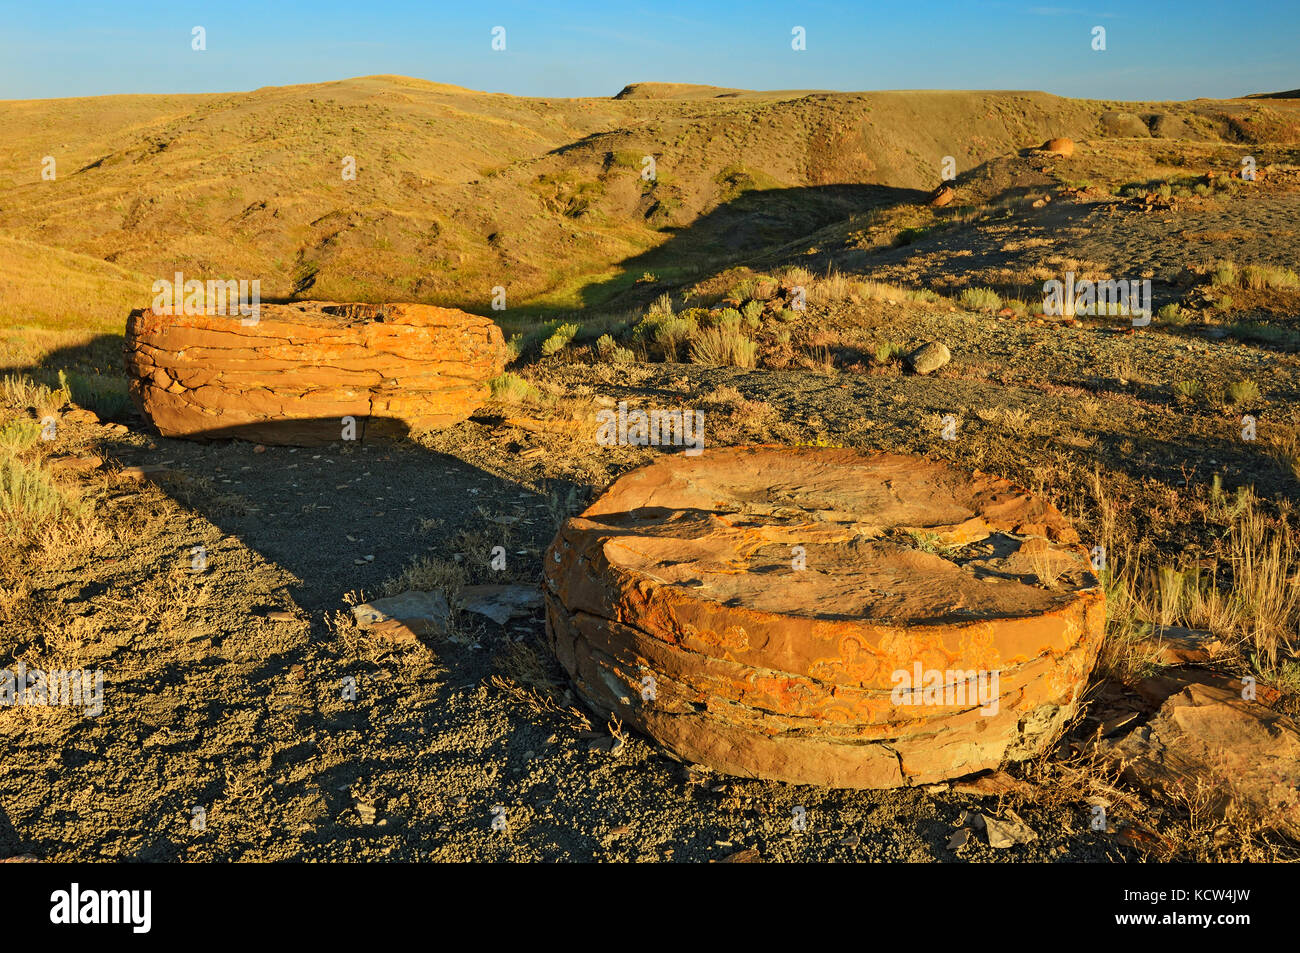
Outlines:
<svg viewBox="0 0 1300 953"><path fill-rule="evenodd" d="M595 710L719 771L845 788L1040 750L1105 619L1053 506L854 450L664 458L567 520L545 576L552 647Z"/></svg>

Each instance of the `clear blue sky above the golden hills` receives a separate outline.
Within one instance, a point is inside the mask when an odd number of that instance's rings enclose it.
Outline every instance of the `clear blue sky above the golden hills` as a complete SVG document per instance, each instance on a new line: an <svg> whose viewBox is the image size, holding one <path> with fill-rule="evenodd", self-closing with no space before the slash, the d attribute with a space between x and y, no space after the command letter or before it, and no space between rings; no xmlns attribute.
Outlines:
<svg viewBox="0 0 1300 953"><path fill-rule="evenodd" d="M207 49L191 49L203 26ZM506 27L506 49L491 30ZM790 48L802 26L807 48ZM1091 48L1105 27L1106 49ZM399 73L493 92L1046 90L1195 99L1300 87L1300 1L113 3L0 0L0 99L224 92Z"/></svg>

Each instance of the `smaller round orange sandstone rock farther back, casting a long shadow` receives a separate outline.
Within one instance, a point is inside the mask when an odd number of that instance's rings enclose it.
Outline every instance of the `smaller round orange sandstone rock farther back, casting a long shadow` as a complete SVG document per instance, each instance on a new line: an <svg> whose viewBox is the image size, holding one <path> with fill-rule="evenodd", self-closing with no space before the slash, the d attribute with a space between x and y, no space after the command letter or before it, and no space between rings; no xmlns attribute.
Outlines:
<svg viewBox="0 0 1300 953"><path fill-rule="evenodd" d="M131 394L166 437L312 446L464 420L502 372L491 321L426 304L263 304L239 316L134 311Z"/></svg>

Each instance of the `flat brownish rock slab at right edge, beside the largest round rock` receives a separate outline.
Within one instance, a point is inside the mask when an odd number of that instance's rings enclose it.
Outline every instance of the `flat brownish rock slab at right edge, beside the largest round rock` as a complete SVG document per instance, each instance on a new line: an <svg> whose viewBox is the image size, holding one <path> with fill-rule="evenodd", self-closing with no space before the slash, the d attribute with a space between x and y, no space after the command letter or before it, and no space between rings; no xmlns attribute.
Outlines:
<svg viewBox="0 0 1300 953"><path fill-rule="evenodd" d="M1171 677L1171 676L1167 676ZM1165 796L1208 802L1219 816L1300 836L1300 725L1242 697L1235 679L1196 672L1152 719L1098 751L1124 777Z"/></svg>

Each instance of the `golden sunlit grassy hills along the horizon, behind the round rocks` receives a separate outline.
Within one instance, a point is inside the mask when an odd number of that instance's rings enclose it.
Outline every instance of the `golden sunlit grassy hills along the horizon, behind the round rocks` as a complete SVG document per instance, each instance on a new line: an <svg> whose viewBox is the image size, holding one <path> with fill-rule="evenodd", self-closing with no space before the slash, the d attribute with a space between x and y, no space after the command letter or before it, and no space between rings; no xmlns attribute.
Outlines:
<svg viewBox="0 0 1300 953"><path fill-rule="evenodd" d="M1048 137L1100 135L1098 117L1115 108L1041 92L670 83L543 100L387 75L6 101L0 320L94 324L176 270L260 278L266 299L486 311L503 286L512 316L599 307L915 203L944 156L968 170ZM1205 118L1222 104L1153 108L1206 135L1249 131ZM1278 107L1231 108L1270 117ZM642 177L647 155L654 181ZM46 156L53 181L42 178ZM32 269L32 246L64 254ZM34 274L35 287L87 294L32 307ZM95 290L101 280L112 290ZM139 294L121 281L140 281Z"/></svg>

